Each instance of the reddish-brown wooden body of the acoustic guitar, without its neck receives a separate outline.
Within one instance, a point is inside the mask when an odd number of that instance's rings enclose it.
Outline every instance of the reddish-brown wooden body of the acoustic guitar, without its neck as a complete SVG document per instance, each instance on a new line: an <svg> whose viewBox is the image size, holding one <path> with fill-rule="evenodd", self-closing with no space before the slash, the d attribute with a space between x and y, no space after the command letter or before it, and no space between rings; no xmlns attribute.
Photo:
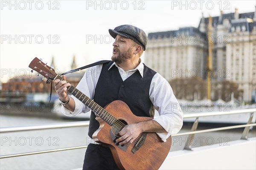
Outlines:
<svg viewBox="0 0 256 170"><path fill-rule="evenodd" d="M125 102L116 100L105 106L105 110L123 123L133 124L151 120L150 117L135 116ZM128 146L117 146L113 127L103 121L100 117L96 117L99 122L99 129L93 133L93 140L98 143L107 144L111 149L113 158L122 170L156 170L159 169L166 156L169 153L172 144L171 136L166 142L157 135L157 133L144 133L145 141L140 148L134 153L132 152L135 142ZM118 130L119 131L119 130Z"/></svg>

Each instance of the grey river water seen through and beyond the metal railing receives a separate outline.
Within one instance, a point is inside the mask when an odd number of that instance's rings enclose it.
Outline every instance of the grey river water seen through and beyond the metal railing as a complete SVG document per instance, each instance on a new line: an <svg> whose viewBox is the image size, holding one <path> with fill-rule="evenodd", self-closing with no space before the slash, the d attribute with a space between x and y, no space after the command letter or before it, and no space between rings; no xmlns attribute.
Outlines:
<svg viewBox="0 0 256 170"><path fill-rule="evenodd" d="M42 115L44 115L42 113ZM62 119L59 117L24 116L0 114L0 126L23 126L48 124L58 122L74 122L74 119ZM191 126L186 125L180 133L189 131ZM209 127L198 127L205 129ZM39 130L19 133L3 133L0 135L0 155L26 153L39 150L50 150L63 147L85 145L90 142L87 138L87 127L70 127L55 130ZM230 141L240 139L242 129L219 131L211 133L199 133L195 135L192 147L203 145L229 145ZM255 128L250 130L249 137L256 136ZM185 146L187 136L172 138L171 151L181 150ZM1 170L70 170L81 168L84 159L84 149L43 153L31 156L19 156L0 160Z"/></svg>

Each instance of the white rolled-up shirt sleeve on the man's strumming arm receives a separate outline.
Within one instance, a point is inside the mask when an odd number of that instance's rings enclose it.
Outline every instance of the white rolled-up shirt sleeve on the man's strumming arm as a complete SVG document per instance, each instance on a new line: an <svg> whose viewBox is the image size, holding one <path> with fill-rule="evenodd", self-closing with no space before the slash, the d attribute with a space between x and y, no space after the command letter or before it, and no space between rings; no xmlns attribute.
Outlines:
<svg viewBox="0 0 256 170"><path fill-rule="evenodd" d="M151 81L149 96L160 115L153 120L158 122L166 130L166 133L157 134L164 142L166 142L166 139L170 135L180 131L183 125L183 112L173 94L169 82L158 73L155 74Z"/></svg>

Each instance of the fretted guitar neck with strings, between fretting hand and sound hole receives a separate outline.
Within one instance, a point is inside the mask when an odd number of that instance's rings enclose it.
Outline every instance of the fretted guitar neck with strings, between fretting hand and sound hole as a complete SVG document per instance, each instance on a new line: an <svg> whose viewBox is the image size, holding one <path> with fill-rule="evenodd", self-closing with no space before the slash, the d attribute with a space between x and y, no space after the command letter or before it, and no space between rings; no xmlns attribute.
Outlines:
<svg viewBox="0 0 256 170"><path fill-rule="evenodd" d="M55 79L64 80L60 76L57 76ZM108 113L108 111L106 111L104 108L102 108L100 105L98 105L92 99L90 99L90 97L83 94L81 91L79 91L73 85L71 85L69 88L67 88L67 91L70 92L70 94L75 96L77 99L79 99L82 103L84 103L84 105L86 105L87 108L90 108L90 110L93 111L96 114L96 116L99 116L100 118L102 118L109 125L112 126L113 123L117 120L113 115Z"/></svg>

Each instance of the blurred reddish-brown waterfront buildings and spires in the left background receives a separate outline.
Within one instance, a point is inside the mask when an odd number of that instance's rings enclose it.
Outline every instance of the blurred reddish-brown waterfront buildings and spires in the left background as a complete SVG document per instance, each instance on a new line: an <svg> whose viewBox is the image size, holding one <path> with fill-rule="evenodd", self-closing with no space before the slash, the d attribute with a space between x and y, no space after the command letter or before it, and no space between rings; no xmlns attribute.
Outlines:
<svg viewBox="0 0 256 170"><path fill-rule="evenodd" d="M52 57L52 62L49 65L52 68L55 68L54 57ZM72 64L70 69L73 70L76 67L76 57L73 56ZM67 69L68 70L68 69ZM35 72L35 71L34 71ZM79 71L71 74L67 74L66 78L73 86L79 83L81 78L84 75L84 71ZM54 90L54 85L51 86L51 83L47 84L47 79L42 80L42 76L36 73L26 74L25 77L16 77L9 79L8 82L2 83L2 90L0 99L1 102L49 102L49 95L52 88L52 99L51 102L54 102L55 99L58 99L58 95Z"/></svg>

